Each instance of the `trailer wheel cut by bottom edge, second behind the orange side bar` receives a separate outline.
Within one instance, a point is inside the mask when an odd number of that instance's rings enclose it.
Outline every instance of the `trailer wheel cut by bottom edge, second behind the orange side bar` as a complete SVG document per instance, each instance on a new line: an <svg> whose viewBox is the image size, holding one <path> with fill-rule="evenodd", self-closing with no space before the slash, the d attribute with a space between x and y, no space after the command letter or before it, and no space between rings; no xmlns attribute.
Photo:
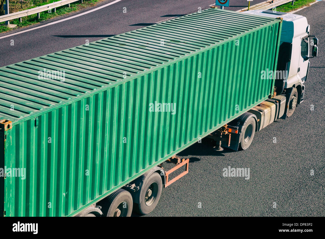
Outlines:
<svg viewBox="0 0 325 239"><path fill-rule="evenodd" d="M106 217L131 217L133 199L131 193L124 189L119 189L110 194L102 208L103 215Z"/></svg>

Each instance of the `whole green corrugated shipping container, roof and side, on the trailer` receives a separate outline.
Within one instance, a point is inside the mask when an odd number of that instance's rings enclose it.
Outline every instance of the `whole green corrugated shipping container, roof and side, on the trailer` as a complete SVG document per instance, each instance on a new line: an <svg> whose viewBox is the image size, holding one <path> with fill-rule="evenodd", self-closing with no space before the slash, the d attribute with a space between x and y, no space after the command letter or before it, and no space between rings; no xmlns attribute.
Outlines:
<svg viewBox="0 0 325 239"><path fill-rule="evenodd" d="M211 8L1 67L1 215L73 216L266 100L281 22Z"/></svg>

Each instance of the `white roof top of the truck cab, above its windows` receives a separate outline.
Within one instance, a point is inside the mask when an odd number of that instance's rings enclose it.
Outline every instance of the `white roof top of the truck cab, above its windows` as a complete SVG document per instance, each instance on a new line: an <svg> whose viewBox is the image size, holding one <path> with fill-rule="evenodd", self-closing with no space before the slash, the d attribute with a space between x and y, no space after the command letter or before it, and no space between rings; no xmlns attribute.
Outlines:
<svg viewBox="0 0 325 239"><path fill-rule="evenodd" d="M292 42L293 38L309 32L307 19L301 15L272 10L251 10L243 13L270 18L282 18L281 42Z"/></svg>

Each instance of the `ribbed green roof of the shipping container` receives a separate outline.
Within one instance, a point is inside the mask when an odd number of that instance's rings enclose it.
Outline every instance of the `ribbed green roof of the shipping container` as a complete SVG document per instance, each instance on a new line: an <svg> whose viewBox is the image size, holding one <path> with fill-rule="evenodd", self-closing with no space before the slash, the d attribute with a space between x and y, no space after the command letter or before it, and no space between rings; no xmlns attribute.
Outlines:
<svg viewBox="0 0 325 239"><path fill-rule="evenodd" d="M209 8L1 67L0 120L14 123L36 117L274 21L278 20ZM59 77L46 79L55 74Z"/></svg>

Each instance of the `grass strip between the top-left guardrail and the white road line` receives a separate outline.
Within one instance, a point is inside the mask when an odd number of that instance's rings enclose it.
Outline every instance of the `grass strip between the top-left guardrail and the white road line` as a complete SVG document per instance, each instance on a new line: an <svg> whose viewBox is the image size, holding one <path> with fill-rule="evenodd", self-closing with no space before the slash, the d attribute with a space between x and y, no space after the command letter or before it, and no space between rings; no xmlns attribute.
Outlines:
<svg viewBox="0 0 325 239"><path fill-rule="evenodd" d="M45 21L45 20L49 20L51 18L55 18L55 17L58 17L58 16L62 16L62 15L65 15L65 14L76 12L76 11L79 11L79 10L81 10L83 8L94 6L100 1L102 1L102 0L86 0L83 3L75 2L75 3L71 3L70 7L62 6L62 7L57 8L56 12L54 12L54 9L52 9L52 13L41 12L40 13L40 19L37 18L37 14L33 14L33 15L30 15L30 16L27 16L27 17L23 17L21 22L19 22L18 19L10 20L11 24L16 24L17 25L16 28L6 27L5 22L0 22L0 33L5 33L5 32L8 32L8 31L11 31L13 29L30 26L30 25L40 23L40 22ZM54 1L49 1L49 2L47 2L45 4L48 4L48 3L51 3L51 2L54 2ZM44 4L41 4L41 5L44 5Z"/></svg>

